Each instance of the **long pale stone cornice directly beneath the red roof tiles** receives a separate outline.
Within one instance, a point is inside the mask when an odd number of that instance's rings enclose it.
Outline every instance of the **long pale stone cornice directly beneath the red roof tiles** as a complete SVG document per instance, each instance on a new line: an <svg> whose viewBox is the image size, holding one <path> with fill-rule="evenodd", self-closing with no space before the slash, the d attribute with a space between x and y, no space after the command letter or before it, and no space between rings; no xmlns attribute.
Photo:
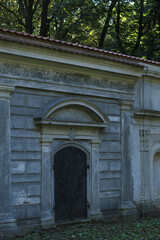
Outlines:
<svg viewBox="0 0 160 240"><path fill-rule="evenodd" d="M20 45L18 43L3 42L0 46L1 54L9 54L10 56L19 56L32 60L43 60L52 63L64 64L67 66L98 70L102 72L123 74L133 77L141 77L143 66L135 66L112 61L112 59L101 59L86 55L77 55L69 52L51 51L48 48L40 48L39 46ZM6 59L8 57L6 56Z"/></svg>

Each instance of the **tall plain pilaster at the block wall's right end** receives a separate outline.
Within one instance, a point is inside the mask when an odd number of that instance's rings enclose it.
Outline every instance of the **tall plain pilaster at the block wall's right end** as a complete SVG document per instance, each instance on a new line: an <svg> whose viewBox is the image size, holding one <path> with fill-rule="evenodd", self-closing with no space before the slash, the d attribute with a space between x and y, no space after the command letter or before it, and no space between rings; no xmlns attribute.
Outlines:
<svg viewBox="0 0 160 240"><path fill-rule="evenodd" d="M131 103L121 103L121 214L122 218L136 217L137 209L132 202L131 163Z"/></svg>

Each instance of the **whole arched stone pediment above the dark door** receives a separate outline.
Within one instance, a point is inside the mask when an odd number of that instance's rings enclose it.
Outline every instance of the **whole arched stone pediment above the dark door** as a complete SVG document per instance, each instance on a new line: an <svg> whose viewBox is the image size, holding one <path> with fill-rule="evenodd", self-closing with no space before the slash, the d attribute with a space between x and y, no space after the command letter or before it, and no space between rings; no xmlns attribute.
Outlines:
<svg viewBox="0 0 160 240"><path fill-rule="evenodd" d="M35 116L37 124L106 127L109 119L94 104L81 99L54 102Z"/></svg>

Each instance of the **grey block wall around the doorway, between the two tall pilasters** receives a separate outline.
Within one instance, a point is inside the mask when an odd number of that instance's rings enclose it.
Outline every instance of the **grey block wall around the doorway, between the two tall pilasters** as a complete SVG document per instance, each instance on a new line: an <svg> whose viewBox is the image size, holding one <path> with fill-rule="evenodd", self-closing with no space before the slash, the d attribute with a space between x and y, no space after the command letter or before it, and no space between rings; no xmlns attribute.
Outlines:
<svg viewBox="0 0 160 240"><path fill-rule="evenodd" d="M65 94L67 96L67 94ZM68 96L70 96L68 94ZM16 88L11 97L12 206L20 224L39 222L41 185L41 129L34 123L38 109L64 94ZM73 96L72 96L73 97ZM77 97L75 95L75 97ZM86 100L86 97L81 96ZM118 101L87 98L110 119L101 130L101 210L118 209L120 204L120 109Z"/></svg>

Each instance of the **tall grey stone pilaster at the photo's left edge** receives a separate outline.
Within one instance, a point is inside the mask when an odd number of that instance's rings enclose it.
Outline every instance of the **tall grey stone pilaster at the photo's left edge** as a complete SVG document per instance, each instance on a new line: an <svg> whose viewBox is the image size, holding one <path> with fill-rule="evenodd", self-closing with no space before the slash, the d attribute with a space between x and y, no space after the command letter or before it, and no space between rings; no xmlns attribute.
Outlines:
<svg viewBox="0 0 160 240"><path fill-rule="evenodd" d="M10 94L14 87L0 84L0 233L17 231L11 213Z"/></svg>

